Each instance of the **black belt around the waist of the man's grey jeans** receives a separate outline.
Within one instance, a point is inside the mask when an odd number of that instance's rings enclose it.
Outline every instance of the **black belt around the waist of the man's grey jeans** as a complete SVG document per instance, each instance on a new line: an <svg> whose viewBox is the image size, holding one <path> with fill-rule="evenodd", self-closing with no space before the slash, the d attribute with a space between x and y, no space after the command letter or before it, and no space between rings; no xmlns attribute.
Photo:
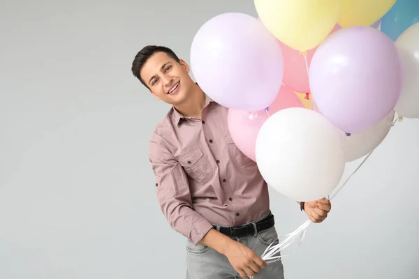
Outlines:
<svg viewBox="0 0 419 279"><path fill-rule="evenodd" d="M237 227L219 227L219 232L229 237L243 237L243 236L255 235L258 232L261 232L265 229L269 229L270 227L273 227L274 225L275 225L274 215L271 213L269 216L266 216L265 218L263 218L262 220L259 220L256 223L249 223L249 224L241 225ZM256 227L256 231L255 231L255 227ZM214 226L214 229L217 229L217 228L218 226Z"/></svg>

